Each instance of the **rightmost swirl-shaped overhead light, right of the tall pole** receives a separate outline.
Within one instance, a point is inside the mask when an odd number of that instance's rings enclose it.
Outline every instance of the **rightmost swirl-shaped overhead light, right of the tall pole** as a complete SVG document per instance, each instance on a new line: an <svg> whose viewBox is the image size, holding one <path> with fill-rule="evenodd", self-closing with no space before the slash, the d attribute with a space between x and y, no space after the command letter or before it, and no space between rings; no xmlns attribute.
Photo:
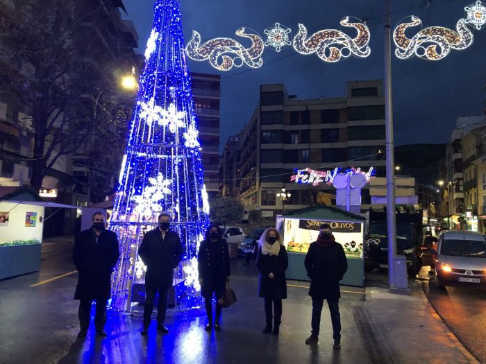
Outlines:
<svg viewBox="0 0 486 364"><path fill-rule="evenodd" d="M410 21L396 26L393 40L397 47L395 50L397 58L406 60L416 55L424 60L442 60L453 49L462 51L473 43L473 33L467 28L465 19L459 19L455 25L456 31L442 26L428 26L412 38L405 35L408 28L421 26L421 24L420 18L412 15Z"/></svg>

